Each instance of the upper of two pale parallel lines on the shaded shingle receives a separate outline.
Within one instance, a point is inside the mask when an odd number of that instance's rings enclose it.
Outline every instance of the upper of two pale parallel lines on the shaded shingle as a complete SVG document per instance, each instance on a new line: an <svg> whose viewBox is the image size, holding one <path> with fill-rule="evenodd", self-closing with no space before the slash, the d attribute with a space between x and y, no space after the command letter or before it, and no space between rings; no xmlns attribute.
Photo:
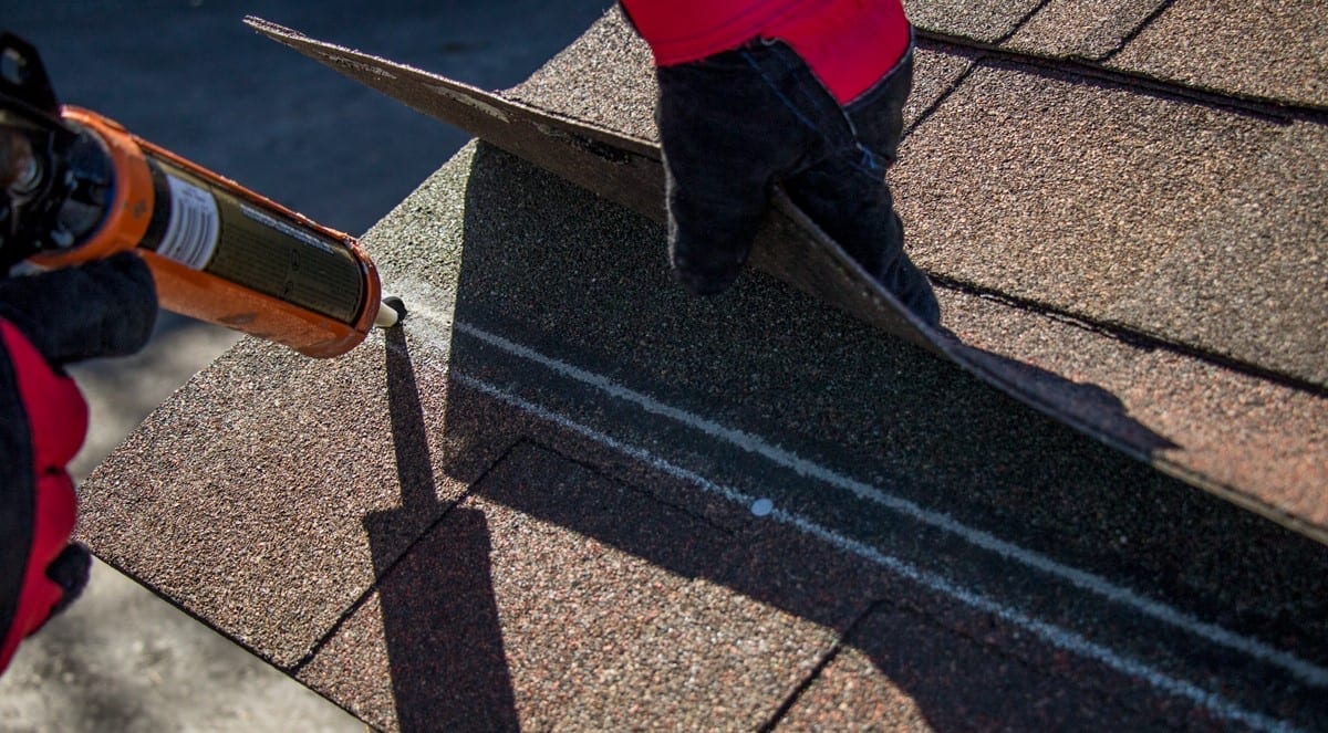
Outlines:
<svg viewBox="0 0 1328 733"><path fill-rule="evenodd" d="M1328 687L1328 669L1305 661L1292 653L1276 649L1256 639L1242 636L1223 627L1195 619L1194 616L1178 611L1165 603L1117 586L1100 575L1069 567L1035 550L1028 550L1019 544L999 539L984 530L969 527L947 514L923 509L908 499L888 494L875 486L843 475L838 471L821 466L819 463L807 461L784 448L780 448L778 445L773 445L762 440L760 436L736 430L695 413L660 402L647 394L641 394L620 385L603 374L596 374L554 357L544 356L529 347L517 344L509 339L490 333L463 321L457 321L453 328L513 356L533 361L564 377L591 386L611 397L631 402L651 414L673 420L700 433L722 440L744 451L761 455L762 458L784 466L798 475L821 481L837 489L849 491L858 498L884 506L911 519L959 536L973 546L996 552L1023 566L1060 578L1081 590L1089 591L1113 603L1134 608L1154 620L1181 628L1220 647L1226 647L1275 667L1280 667L1307 684L1315 687Z"/></svg>

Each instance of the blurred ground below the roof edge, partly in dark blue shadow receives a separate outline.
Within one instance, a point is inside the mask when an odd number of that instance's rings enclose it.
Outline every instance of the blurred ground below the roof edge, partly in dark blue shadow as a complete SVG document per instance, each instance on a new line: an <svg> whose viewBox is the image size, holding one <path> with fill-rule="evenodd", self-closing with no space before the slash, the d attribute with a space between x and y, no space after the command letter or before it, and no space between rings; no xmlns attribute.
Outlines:
<svg viewBox="0 0 1328 733"><path fill-rule="evenodd" d="M430 69L507 86L567 45L606 0L0 1L56 92L304 214L361 232L466 137L286 52L252 13L372 42ZM139 356L77 366L93 429L86 475L153 409L236 341L163 313ZM0 679L4 730L360 730L363 724L110 566Z"/></svg>

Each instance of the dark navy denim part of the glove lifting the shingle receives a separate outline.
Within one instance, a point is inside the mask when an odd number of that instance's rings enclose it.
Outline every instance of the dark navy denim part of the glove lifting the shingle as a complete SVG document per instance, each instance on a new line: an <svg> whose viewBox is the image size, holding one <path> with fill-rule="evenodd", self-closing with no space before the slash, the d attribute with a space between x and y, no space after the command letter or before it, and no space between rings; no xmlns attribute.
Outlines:
<svg viewBox="0 0 1328 733"><path fill-rule="evenodd" d="M685 287L714 293L737 279L778 183L882 287L939 323L884 178L903 134L912 52L843 106L780 41L661 66L657 78L669 259Z"/></svg>

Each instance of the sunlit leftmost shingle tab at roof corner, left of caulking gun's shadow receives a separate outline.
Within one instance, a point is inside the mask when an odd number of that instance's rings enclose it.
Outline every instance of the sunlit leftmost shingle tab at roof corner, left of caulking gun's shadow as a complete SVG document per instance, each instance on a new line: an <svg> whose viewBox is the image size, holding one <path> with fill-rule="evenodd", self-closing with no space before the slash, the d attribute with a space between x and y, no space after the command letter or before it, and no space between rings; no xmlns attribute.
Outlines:
<svg viewBox="0 0 1328 733"><path fill-rule="evenodd" d="M397 450L402 408L389 381L402 378L432 404L445 400L441 373L389 377L381 348L311 361L243 341L88 478L78 532L105 560L291 665L477 475L436 462L425 442ZM422 420L410 434L442 440ZM371 547L364 517L398 506L404 489L418 503L380 525Z"/></svg>

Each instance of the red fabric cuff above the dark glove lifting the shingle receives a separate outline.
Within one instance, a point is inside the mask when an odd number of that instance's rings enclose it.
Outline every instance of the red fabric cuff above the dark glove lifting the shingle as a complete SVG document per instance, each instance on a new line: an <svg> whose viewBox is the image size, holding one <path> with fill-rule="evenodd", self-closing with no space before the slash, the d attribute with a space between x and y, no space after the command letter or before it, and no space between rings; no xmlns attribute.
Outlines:
<svg viewBox="0 0 1328 733"><path fill-rule="evenodd" d="M622 0L655 62L699 61L753 39L777 39L847 104L908 52L900 0Z"/></svg>

